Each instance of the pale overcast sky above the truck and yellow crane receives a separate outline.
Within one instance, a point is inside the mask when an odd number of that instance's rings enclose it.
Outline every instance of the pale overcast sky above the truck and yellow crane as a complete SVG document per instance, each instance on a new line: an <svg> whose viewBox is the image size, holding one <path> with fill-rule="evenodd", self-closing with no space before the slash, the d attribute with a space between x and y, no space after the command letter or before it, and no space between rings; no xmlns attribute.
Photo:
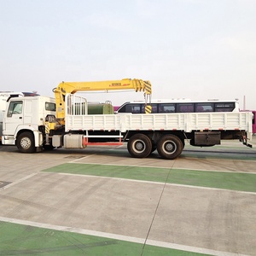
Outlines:
<svg viewBox="0 0 256 256"><path fill-rule="evenodd" d="M0 0L0 90L54 96L61 81L144 79L153 99L256 109L255 14L256 0Z"/></svg>

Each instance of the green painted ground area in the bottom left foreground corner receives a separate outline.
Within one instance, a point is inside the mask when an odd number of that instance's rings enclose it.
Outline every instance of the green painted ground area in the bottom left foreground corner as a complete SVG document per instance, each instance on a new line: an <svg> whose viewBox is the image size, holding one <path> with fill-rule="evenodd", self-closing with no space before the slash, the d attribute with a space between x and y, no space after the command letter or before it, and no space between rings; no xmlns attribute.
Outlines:
<svg viewBox="0 0 256 256"><path fill-rule="evenodd" d="M207 255L8 222L0 233L0 255Z"/></svg>

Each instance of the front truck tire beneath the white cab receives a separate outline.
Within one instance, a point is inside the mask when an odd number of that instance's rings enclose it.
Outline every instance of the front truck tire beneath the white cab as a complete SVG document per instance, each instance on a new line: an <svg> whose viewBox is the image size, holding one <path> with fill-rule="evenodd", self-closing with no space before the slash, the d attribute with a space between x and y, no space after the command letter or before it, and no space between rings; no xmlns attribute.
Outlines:
<svg viewBox="0 0 256 256"><path fill-rule="evenodd" d="M34 153L36 151L34 136L28 131L20 133L16 145L21 153Z"/></svg>

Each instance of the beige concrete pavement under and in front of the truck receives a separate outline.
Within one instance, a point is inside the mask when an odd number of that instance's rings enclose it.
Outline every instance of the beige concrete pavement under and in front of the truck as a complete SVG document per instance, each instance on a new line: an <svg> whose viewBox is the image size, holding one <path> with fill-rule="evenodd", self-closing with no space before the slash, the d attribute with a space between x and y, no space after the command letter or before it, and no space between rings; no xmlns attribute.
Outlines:
<svg viewBox="0 0 256 256"><path fill-rule="evenodd" d="M166 179L174 169L256 174L256 147L229 143L204 151L186 146L177 160L162 160L157 154L133 159L122 147L41 154L0 147L2 221L88 230L87 234L195 253L256 255L255 192L78 175L72 167L70 173L42 172L69 163L84 168L102 165L102 173L106 166L114 166L117 173L129 166L135 166L134 172L152 166L166 169ZM141 255L147 255L143 249Z"/></svg>

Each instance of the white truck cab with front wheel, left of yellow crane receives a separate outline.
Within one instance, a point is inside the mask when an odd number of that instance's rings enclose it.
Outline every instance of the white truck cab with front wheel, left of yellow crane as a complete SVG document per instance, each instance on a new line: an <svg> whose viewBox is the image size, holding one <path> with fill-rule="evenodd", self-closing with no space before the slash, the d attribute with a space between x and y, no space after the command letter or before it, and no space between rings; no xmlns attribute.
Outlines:
<svg viewBox="0 0 256 256"><path fill-rule="evenodd" d="M55 116L55 99L44 96L10 98L3 117L2 143L16 145L34 152L44 143L44 123L47 115ZM34 147L29 147L34 145Z"/></svg>

